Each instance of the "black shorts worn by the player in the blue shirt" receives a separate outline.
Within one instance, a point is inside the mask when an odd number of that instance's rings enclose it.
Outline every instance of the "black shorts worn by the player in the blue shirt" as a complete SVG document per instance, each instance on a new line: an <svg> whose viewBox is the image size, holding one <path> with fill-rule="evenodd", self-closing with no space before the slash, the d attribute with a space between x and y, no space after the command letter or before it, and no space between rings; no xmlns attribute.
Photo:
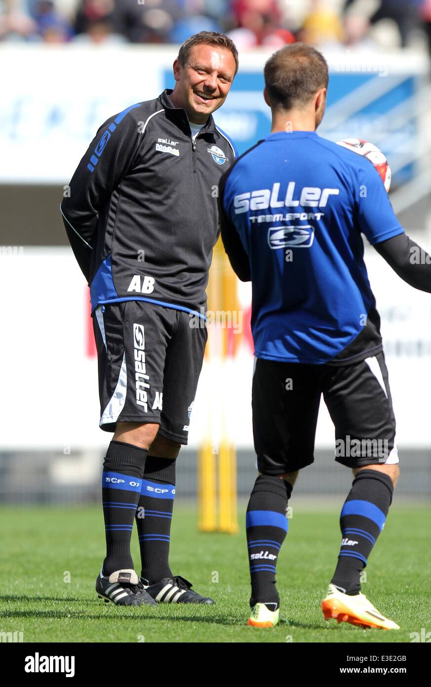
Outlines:
<svg viewBox="0 0 431 687"><path fill-rule="evenodd" d="M314 461L321 394L335 425L335 460L351 468L397 463L395 416L384 354L353 365L255 361L253 436L266 475Z"/></svg>

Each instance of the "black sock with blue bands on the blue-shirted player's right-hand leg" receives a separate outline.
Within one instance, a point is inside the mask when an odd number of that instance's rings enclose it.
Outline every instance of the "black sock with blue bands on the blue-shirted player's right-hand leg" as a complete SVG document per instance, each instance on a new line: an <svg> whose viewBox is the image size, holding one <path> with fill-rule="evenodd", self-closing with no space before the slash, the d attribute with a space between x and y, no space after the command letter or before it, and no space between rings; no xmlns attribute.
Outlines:
<svg viewBox="0 0 431 687"><path fill-rule="evenodd" d="M341 550L331 579L344 594L360 592L360 574L384 527L393 497L391 477L377 470L360 470L340 515Z"/></svg>

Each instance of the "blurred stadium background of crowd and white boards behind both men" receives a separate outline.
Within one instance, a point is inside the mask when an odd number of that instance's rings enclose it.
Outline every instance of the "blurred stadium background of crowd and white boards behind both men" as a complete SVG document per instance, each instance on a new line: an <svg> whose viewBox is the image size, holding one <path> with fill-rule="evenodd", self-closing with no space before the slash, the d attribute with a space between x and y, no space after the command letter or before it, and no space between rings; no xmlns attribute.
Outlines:
<svg viewBox="0 0 431 687"><path fill-rule="evenodd" d="M98 126L172 87L172 62L187 36L225 30L237 43L240 72L215 120L244 152L270 128L261 95L266 58L285 42L308 41L330 67L319 133L333 140L362 137L384 150L395 212L431 251L430 25L428 1L0 0L3 504L100 500L109 436L97 427L88 289L58 210ZM431 301L401 282L371 247L365 259L382 315L397 417L397 493L428 499ZM216 356L205 362L189 447L178 459L178 499L196 497L198 450L210 423L217 453L220 414L237 449L240 497L255 479L248 284L237 284L235 297L231 354L224 362ZM316 462L301 474L295 495L340 502L350 482L349 471L334 462L333 428L322 404Z"/></svg>

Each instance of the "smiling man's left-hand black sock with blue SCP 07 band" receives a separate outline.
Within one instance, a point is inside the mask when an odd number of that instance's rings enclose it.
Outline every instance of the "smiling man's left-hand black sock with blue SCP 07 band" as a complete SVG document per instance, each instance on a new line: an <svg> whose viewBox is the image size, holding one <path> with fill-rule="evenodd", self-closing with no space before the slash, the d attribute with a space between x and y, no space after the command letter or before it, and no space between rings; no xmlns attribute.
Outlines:
<svg viewBox="0 0 431 687"><path fill-rule="evenodd" d="M102 474L102 502L106 532L106 559L102 572L133 568L130 538L141 493L147 451L122 441L111 441Z"/></svg>

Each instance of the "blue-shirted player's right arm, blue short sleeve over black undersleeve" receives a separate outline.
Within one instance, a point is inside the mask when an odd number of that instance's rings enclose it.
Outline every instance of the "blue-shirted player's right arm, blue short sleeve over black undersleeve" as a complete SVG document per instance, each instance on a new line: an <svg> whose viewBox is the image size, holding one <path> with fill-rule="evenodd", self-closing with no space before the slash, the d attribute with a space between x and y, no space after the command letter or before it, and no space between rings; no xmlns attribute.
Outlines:
<svg viewBox="0 0 431 687"><path fill-rule="evenodd" d="M404 232L372 164L359 170L358 188L360 230L401 279L415 289L431 293L431 258ZM414 257L418 254L419 263Z"/></svg>

